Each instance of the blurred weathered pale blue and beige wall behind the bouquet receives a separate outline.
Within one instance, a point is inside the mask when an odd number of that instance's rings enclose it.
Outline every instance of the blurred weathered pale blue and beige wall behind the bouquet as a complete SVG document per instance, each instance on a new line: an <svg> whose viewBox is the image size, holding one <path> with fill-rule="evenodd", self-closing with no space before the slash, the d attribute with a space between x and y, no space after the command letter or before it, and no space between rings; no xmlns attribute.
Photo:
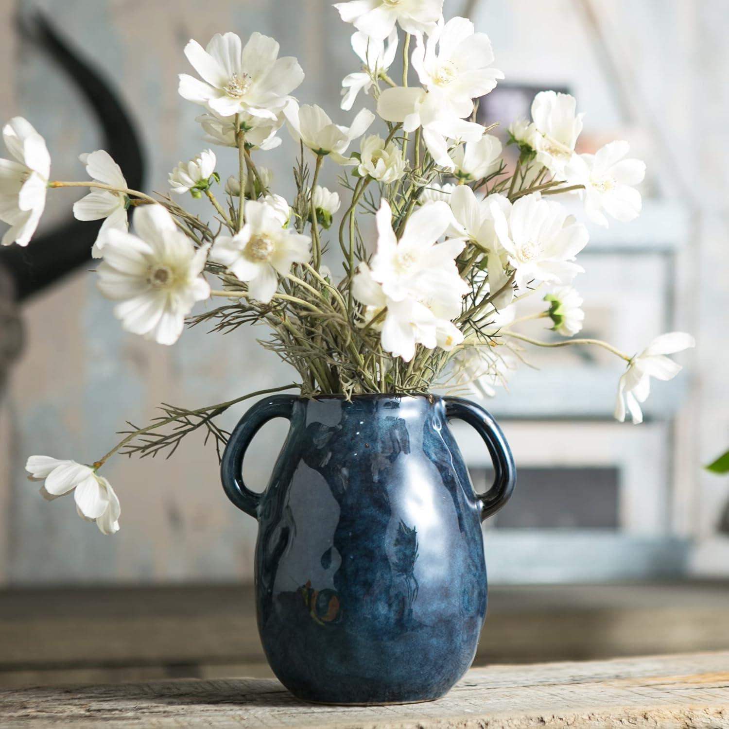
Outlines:
<svg viewBox="0 0 729 729"><path fill-rule="evenodd" d="M187 39L258 30L299 58L297 97L335 121L340 79L356 67L349 31L324 0L4 0L0 3L0 110L28 117L45 136L55 179L83 179L79 152L99 130L69 79L15 30L41 9L92 59L130 108L147 152L147 189L205 146L199 109L177 95L190 69ZM575 282L586 333L627 351L674 328L693 332L685 375L656 383L642 426L612 421L620 367L576 353L534 356L491 408L523 467L521 501L488 526L492 579L599 580L726 574L720 529L729 483L701 464L729 445L727 107L729 9L722 0L445 0L491 37L511 85L557 87L586 112L582 151L628 139L647 161L645 210L629 225L593 230ZM293 145L265 153L276 192L290 195ZM219 153L225 179L235 160ZM333 165L324 184L335 184ZM54 191L46 228L80 195ZM202 211L204 208L200 207ZM88 268L92 268L90 265ZM255 523L227 502L214 449L185 442L170 461L117 459L106 472L122 501L121 531L102 537L71 502L45 504L28 483L31 453L91 462L125 421L159 402L188 408L293 381L257 346L261 330L226 337L185 332L174 348L126 335L85 270L23 307L26 342L0 396L0 585L249 580ZM233 426L245 408L227 414ZM246 475L262 488L284 425L260 435ZM475 480L487 464L461 436ZM510 507L511 509L511 507Z"/></svg>

